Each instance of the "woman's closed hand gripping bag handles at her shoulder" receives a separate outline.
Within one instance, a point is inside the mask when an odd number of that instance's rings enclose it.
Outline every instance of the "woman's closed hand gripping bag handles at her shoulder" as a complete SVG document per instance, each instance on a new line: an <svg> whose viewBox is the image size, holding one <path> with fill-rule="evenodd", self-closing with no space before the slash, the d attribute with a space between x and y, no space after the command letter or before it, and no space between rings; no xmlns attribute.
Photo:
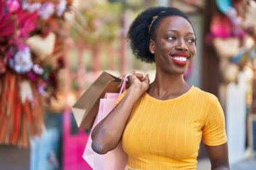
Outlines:
<svg viewBox="0 0 256 170"><path fill-rule="evenodd" d="M148 75L143 77L142 74L131 71L128 81L130 83L130 88L134 89L137 93L139 93L139 95L143 95L150 88L150 79Z"/></svg>

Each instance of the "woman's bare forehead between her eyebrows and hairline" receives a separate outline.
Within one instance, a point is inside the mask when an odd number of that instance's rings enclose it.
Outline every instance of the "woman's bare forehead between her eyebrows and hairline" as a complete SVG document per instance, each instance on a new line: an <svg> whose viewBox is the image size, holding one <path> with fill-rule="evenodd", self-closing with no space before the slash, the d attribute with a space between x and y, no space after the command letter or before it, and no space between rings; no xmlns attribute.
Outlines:
<svg viewBox="0 0 256 170"><path fill-rule="evenodd" d="M160 20L157 30L160 32L166 32L168 30L178 30L179 32L186 34L192 32L193 28L191 24L184 17L180 16L168 16Z"/></svg>

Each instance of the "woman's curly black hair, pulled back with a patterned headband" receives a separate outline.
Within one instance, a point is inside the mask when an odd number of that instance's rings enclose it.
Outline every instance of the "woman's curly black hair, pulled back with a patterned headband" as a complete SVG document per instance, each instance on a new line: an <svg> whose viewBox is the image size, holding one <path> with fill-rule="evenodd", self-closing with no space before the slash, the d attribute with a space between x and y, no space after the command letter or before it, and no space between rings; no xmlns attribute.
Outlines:
<svg viewBox="0 0 256 170"><path fill-rule="evenodd" d="M155 40L156 28L158 27L161 19L173 15L184 17L191 24L187 15L174 7L150 7L145 11L142 11L137 16L131 24L127 34L131 50L137 58L145 62L154 62L154 54L151 54L148 49L150 45L150 38ZM153 19L153 17L156 16L157 18ZM152 22L153 20L154 22Z"/></svg>

